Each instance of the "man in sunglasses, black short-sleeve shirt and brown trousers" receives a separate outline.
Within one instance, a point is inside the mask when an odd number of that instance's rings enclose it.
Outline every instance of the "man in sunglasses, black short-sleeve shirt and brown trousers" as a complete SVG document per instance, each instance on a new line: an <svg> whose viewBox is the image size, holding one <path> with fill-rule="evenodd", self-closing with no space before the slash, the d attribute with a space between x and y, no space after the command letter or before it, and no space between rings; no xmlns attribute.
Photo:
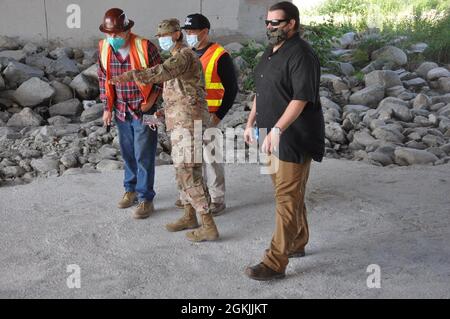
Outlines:
<svg viewBox="0 0 450 319"><path fill-rule="evenodd" d="M256 97L244 138L253 142L253 125L269 133L262 151L277 161L271 175L275 187L276 228L262 263L248 267L255 280L282 278L288 258L305 255L309 240L305 188L312 160L321 162L325 126L319 98L320 63L300 38L298 8L273 5L266 25L269 48L255 69Z"/></svg>

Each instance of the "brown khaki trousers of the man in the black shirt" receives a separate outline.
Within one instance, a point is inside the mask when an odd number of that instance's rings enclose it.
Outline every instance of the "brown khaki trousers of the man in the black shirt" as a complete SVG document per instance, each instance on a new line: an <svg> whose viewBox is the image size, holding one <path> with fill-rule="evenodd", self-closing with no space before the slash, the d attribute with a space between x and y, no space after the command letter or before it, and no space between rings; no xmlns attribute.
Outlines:
<svg viewBox="0 0 450 319"><path fill-rule="evenodd" d="M303 250L309 240L306 220L305 189L311 159L303 164L279 160L278 171L271 175L275 188L275 232L263 263L271 269L284 272L288 254Z"/></svg>

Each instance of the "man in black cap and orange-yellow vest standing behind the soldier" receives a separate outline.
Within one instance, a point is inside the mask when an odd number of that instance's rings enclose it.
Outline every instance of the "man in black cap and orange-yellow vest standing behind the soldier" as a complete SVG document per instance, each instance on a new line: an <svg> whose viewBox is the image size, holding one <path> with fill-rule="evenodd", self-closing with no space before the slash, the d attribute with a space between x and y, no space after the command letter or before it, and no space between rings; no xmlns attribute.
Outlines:
<svg viewBox="0 0 450 319"><path fill-rule="evenodd" d="M237 78L230 54L218 43L211 42L211 24L204 15L196 13L186 17L184 29L190 47L198 54L205 73L206 100L212 126L217 126L233 106L238 92ZM214 148L215 158L223 158ZM211 195L211 211L217 216L225 210L224 164L214 159L204 161L204 175ZM183 198L176 206L183 207Z"/></svg>

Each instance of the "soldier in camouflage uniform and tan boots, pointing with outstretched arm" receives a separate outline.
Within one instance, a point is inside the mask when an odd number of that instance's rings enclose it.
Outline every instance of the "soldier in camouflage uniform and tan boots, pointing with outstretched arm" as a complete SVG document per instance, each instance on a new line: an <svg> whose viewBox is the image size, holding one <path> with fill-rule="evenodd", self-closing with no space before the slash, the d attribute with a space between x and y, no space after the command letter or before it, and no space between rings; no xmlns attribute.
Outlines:
<svg viewBox="0 0 450 319"><path fill-rule="evenodd" d="M200 141L200 147L195 147L198 141L194 141L194 124L200 123L200 128L204 129L210 119L203 68L197 55L183 43L177 19L162 21L156 36L162 49L170 50L172 56L155 67L126 72L113 78L111 83L164 82L166 128L171 133L177 184L189 202L184 206L184 215L166 228L171 232L197 228L186 234L189 240L216 240L219 233L210 212L210 198L202 175L202 143ZM200 152L199 161L194 160L195 152ZM196 212L202 218L200 228Z"/></svg>

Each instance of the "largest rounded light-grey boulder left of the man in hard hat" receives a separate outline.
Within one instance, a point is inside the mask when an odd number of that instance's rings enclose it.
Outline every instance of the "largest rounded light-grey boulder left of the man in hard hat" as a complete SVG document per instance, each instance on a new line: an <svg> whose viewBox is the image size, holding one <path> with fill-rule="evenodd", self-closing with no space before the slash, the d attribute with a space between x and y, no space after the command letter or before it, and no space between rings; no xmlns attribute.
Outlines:
<svg viewBox="0 0 450 319"><path fill-rule="evenodd" d="M39 78L31 78L16 90L14 98L22 106L36 106L55 95L55 89Z"/></svg>

